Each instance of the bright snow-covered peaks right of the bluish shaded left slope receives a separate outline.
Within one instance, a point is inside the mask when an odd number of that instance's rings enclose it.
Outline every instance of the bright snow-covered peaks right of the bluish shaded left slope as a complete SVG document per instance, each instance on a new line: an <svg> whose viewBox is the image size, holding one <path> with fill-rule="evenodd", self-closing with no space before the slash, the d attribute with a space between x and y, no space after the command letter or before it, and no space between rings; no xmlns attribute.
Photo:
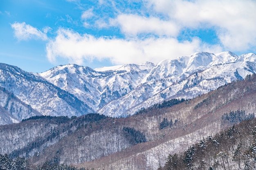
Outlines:
<svg viewBox="0 0 256 170"><path fill-rule="evenodd" d="M95 112L133 115L171 98L191 99L256 72L256 55L193 53L153 64L91 69L68 64L38 75L72 93Z"/></svg>

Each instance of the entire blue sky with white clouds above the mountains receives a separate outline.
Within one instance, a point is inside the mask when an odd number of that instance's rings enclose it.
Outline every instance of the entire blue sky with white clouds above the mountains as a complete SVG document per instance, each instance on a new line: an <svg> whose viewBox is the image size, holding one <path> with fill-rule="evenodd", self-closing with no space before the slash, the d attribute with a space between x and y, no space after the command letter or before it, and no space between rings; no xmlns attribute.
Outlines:
<svg viewBox="0 0 256 170"><path fill-rule="evenodd" d="M0 62L34 73L255 47L255 0L0 0Z"/></svg>

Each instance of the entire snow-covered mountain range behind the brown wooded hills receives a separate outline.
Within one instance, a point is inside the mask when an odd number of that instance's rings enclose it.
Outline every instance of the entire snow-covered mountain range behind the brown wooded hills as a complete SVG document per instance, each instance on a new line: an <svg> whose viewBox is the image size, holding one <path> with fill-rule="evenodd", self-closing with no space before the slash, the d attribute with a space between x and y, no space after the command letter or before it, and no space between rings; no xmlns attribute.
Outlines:
<svg viewBox="0 0 256 170"><path fill-rule="evenodd" d="M127 117L172 98L192 99L256 72L256 55L193 53L153 64L56 66L27 73L0 64L0 124L34 115Z"/></svg>

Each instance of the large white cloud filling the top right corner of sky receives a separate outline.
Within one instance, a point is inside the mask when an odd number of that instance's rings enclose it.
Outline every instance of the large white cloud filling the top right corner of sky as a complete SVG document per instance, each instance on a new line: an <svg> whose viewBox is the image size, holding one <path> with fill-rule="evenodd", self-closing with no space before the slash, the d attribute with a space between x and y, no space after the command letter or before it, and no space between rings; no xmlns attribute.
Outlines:
<svg viewBox="0 0 256 170"><path fill-rule="evenodd" d="M255 0L147 0L147 5L180 28L214 28L228 50L245 51L256 45Z"/></svg>

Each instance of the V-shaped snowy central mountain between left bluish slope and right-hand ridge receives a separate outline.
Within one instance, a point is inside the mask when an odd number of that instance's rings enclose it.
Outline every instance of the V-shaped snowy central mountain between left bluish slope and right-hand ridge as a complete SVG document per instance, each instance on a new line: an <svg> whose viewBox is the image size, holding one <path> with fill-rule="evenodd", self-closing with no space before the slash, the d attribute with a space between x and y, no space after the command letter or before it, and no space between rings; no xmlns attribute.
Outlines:
<svg viewBox="0 0 256 170"><path fill-rule="evenodd" d="M74 94L97 112L109 102L116 100L141 84L144 77L154 67L153 63L126 64L95 71L76 64L57 66L44 73L42 77L52 84Z"/></svg>

